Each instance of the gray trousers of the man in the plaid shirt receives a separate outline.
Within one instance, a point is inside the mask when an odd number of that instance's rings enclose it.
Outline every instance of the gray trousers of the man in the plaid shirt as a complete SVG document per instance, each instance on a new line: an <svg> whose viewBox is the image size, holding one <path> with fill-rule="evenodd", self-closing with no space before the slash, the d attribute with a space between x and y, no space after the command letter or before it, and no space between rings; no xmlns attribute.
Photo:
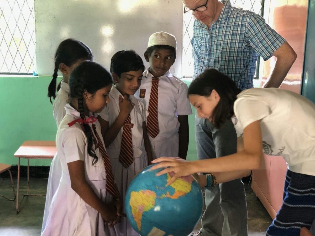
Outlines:
<svg viewBox="0 0 315 236"><path fill-rule="evenodd" d="M231 120L217 129L196 114L195 138L199 160L236 153L236 131ZM201 218L203 236L247 235L246 196L240 179L205 188L205 204Z"/></svg>

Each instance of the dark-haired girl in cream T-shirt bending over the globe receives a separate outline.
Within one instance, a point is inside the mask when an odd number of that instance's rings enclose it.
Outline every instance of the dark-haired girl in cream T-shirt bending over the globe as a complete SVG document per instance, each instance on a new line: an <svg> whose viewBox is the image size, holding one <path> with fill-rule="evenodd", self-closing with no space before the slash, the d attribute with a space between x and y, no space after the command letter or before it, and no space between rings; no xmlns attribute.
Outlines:
<svg viewBox="0 0 315 236"><path fill-rule="evenodd" d="M214 159L185 161L161 157L152 167L168 167L157 175L174 171L169 183L196 172L200 185L248 176L259 169L263 153L282 156L288 164L283 204L267 235L300 235L315 219L315 104L294 92L279 88L240 91L217 70L200 74L188 88L188 98L200 118L220 127L232 119L237 136L237 153ZM263 148L262 148L263 147Z"/></svg>

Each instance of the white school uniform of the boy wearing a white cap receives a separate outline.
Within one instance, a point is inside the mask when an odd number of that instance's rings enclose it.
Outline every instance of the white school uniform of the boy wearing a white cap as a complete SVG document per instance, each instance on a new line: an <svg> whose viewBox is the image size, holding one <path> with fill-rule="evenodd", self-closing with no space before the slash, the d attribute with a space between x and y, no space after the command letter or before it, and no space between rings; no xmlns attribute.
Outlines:
<svg viewBox="0 0 315 236"><path fill-rule="evenodd" d="M153 75L149 68L143 73L141 86L135 97L143 102L148 110ZM159 133L155 138L149 136L153 159L162 156L178 156L180 123L177 115L190 115L192 108L187 98L188 87L185 82L173 76L169 71L159 77L157 96L157 119Z"/></svg>

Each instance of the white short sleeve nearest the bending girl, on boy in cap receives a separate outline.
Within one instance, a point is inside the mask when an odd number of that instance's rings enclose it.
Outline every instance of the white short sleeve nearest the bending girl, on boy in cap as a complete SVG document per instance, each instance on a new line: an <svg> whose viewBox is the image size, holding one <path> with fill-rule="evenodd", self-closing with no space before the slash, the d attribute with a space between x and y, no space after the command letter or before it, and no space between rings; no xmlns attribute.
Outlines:
<svg viewBox="0 0 315 236"><path fill-rule="evenodd" d="M187 98L188 87L184 82L179 84L178 98L176 101L176 112L177 115L190 115L192 114L192 108Z"/></svg>

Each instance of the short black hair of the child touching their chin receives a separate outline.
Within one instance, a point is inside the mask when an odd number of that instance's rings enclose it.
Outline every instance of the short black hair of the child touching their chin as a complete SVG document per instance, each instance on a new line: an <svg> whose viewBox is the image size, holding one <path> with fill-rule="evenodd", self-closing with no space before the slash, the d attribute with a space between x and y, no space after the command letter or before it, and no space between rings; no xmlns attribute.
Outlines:
<svg viewBox="0 0 315 236"><path fill-rule="evenodd" d="M128 71L145 70L141 57L134 50L122 50L115 53L111 59L111 73L120 77Z"/></svg>

